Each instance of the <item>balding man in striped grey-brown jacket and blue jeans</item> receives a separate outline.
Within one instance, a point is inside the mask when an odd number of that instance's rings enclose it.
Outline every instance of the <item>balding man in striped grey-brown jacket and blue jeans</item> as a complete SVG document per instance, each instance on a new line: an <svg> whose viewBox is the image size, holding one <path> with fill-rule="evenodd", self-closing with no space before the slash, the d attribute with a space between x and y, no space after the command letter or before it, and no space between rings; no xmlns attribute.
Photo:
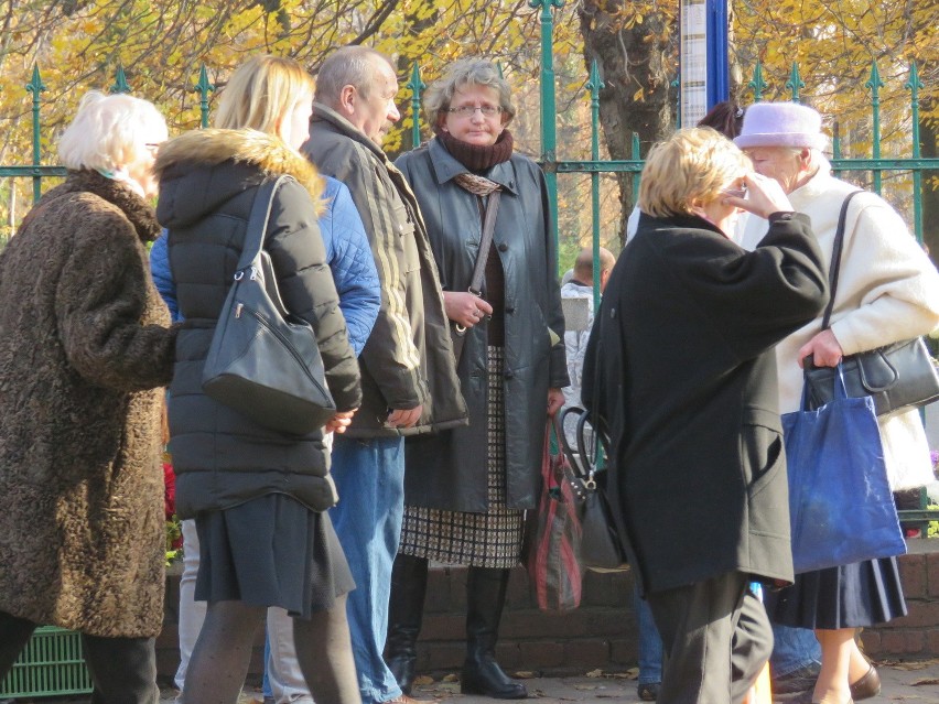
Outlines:
<svg viewBox="0 0 939 704"><path fill-rule="evenodd" d="M348 599L364 704L407 702L381 658L398 551L409 434L466 423L436 266L414 195L381 150L400 119L388 59L365 46L320 69L310 140L320 171L348 186L381 282L381 308L359 357L363 404L333 445L339 503L331 511L356 581Z"/></svg>

